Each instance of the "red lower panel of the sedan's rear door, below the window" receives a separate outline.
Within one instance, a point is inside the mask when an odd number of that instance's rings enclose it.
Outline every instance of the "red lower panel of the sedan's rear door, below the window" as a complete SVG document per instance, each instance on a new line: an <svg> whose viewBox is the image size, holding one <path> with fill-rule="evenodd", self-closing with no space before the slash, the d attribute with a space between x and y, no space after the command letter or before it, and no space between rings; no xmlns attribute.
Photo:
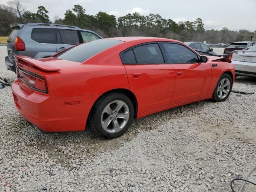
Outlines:
<svg viewBox="0 0 256 192"><path fill-rule="evenodd" d="M169 106L175 74L170 64L124 65L130 90L136 95L138 114Z"/></svg>

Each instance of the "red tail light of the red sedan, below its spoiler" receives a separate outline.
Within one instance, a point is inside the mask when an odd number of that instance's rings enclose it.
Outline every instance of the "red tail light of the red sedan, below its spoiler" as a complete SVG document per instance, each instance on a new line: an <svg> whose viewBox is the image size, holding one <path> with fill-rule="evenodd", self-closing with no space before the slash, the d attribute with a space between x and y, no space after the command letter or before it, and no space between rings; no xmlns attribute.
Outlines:
<svg viewBox="0 0 256 192"><path fill-rule="evenodd" d="M18 79L26 83L30 88L40 92L48 93L46 82L43 77L36 74L31 74L30 72L20 68L17 68L17 75Z"/></svg>

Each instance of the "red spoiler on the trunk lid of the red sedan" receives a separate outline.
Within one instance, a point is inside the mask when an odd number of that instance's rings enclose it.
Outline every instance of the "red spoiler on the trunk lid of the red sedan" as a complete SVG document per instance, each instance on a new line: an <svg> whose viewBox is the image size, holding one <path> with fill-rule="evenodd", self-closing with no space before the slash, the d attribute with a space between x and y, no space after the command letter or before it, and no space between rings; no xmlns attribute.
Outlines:
<svg viewBox="0 0 256 192"><path fill-rule="evenodd" d="M43 70L43 71L47 71L47 72L60 71L60 69L52 66L51 64L42 62L35 58L31 58L31 57L27 57L27 56L17 56L17 55L15 57L18 59L18 61L24 61L28 64L31 64L31 65Z"/></svg>

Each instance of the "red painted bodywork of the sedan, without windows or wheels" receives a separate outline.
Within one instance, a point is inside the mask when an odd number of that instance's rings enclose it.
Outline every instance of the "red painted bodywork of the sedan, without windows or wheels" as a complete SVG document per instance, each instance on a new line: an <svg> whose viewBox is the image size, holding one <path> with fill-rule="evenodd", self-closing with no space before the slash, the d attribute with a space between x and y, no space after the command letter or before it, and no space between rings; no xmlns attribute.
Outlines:
<svg viewBox="0 0 256 192"><path fill-rule="evenodd" d="M234 76L233 65L216 57L196 64L123 65L119 54L131 46L179 41L145 37L113 39L124 42L83 63L53 57L33 59L19 56L18 67L43 77L48 87L48 93L42 93L32 90L19 79L15 80L12 92L20 114L43 131L84 130L93 104L108 91L123 89L132 92L138 103L136 117L141 118L211 98L224 72L229 71ZM218 66L212 67L212 64Z"/></svg>

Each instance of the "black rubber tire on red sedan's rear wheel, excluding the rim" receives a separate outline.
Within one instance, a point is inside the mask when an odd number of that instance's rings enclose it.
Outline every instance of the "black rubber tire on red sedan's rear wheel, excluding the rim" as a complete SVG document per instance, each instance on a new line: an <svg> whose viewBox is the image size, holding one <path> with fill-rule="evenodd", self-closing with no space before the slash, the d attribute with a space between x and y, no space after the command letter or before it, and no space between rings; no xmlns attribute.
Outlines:
<svg viewBox="0 0 256 192"><path fill-rule="evenodd" d="M122 128L122 130L116 133L109 133L109 132L106 132L102 127L101 117L102 117L102 112L104 108L111 102L114 102L115 100L121 100L125 102L126 105L128 106L130 115L126 125ZM106 95L103 95L98 99L98 101L96 101L96 103L94 104L90 112L89 122L93 132L95 132L98 136L107 138L107 139L113 139L123 135L128 130L128 128L132 123L133 117L134 117L134 106L130 98L128 98L128 96L126 96L121 92L111 92Z"/></svg>

